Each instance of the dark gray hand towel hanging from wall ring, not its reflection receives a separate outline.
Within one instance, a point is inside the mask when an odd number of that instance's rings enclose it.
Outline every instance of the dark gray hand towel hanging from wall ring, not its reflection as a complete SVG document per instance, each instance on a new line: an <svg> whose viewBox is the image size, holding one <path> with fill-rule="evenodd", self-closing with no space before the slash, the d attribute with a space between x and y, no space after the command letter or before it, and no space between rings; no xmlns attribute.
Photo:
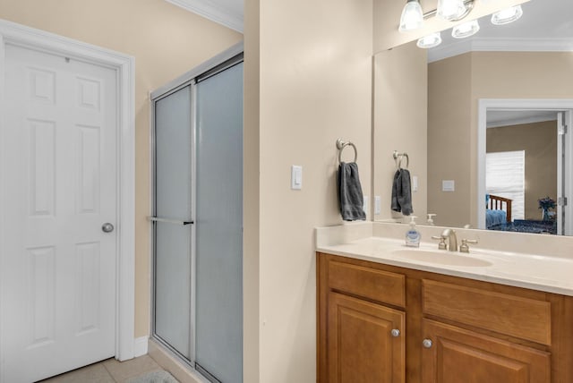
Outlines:
<svg viewBox="0 0 573 383"><path fill-rule="evenodd" d="M355 162L348 164L341 162L338 166L338 202L340 214L345 221L366 219L362 186Z"/></svg>

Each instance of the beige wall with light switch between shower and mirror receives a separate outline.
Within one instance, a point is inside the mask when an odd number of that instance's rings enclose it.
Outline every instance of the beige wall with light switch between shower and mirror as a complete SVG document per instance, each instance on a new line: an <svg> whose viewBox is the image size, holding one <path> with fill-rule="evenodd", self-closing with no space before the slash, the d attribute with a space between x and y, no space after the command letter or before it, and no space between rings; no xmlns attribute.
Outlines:
<svg viewBox="0 0 573 383"><path fill-rule="evenodd" d="M246 100L245 134L252 143L259 139L259 157L248 159L256 167L247 176L254 179L254 172L260 172L258 191L245 186L255 192L245 205L254 205L256 194L260 201L253 212L258 212L258 222L245 217L244 238L250 252L245 254L250 258L245 276L257 277L259 268L258 282L248 287L249 294L258 290L258 296L245 296L251 305L245 311L256 311L259 300L260 370L255 379L256 362L246 354L245 374L249 371L250 377L245 381L312 382L313 232L316 226L342 223L336 190L338 138L355 143L363 190L371 189L372 0L245 4L248 12L259 14L259 27L251 20L245 30L245 72L259 72L258 83L245 83L252 101ZM249 47L258 47L259 57ZM258 87L258 96L253 87ZM253 105L257 98L259 111ZM290 190L291 165L303 166L301 191ZM258 265L253 265L257 257ZM250 348L252 340L246 342Z"/></svg>

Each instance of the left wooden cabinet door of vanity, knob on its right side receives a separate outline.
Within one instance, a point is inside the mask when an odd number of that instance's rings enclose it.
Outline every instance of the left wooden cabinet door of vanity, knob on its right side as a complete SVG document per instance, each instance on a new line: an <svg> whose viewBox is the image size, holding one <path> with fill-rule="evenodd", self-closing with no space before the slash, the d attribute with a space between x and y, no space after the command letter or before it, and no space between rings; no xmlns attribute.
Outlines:
<svg viewBox="0 0 573 383"><path fill-rule="evenodd" d="M329 383L404 382L404 312L331 293L328 317Z"/></svg>

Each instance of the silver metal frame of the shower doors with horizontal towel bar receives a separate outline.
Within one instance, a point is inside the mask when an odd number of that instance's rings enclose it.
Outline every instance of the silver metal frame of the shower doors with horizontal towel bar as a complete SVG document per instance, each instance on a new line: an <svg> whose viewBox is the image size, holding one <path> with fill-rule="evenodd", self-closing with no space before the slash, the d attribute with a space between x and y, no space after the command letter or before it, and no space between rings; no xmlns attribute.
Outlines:
<svg viewBox="0 0 573 383"><path fill-rule="evenodd" d="M242 63L244 61L244 45L243 43L236 44L233 47L228 48L226 51L222 52L219 55L212 57L210 60L206 61L203 64L198 65L197 67L193 68L189 72L185 72L183 75L177 77L175 80L170 81L165 86L156 89L150 93L150 211L151 217L150 220L150 261L151 261L151 284L150 284L150 297L151 297L151 304L150 304L150 328L151 334L150 337L158 342L158 344L164 346L169 353L172 353L177 357L178 360L187 364L192 370L196 370L195 368L195 312L196 312L196 305L195 305L195 282L196 279L194 277L194 273L196 271L196 254L195 254L195 243L196 243L196 226L193 225L196 222L195 212L196 212L196 183L195 183L195 171L196 171L196 142L195 142L195 132L196 132L196 85L199 81L205 80L210 76L217 74L218 72L225 71L226 69L234 66L235 64ZM191 178L191 189L192 189L192 196L190 196L190 206L191 206L191 217L189 217L189 221L174 221L169 219L168 217L157 217L156 215L156 115L155 115L155 108L156 103L158 100L162 98L166 98L174 94L176 91L184 89L185 87L191 87L191 130L192 130L192 142L191 142L191 174L189 174ZM179 353L175 350L174 347L169 345L166 341L161 339L160 336L156 334L156 327L155 327L155 297L156 297L156 286L155 286L155 278L156 278L156 241L155 241L155 234L156 234L156 225L155 222L165 222L171 223L175 225L189 225L191 226L191 249L189 249L190 257L191 257L191 276L192 276L192 283L191 283L191 306L190 306L190 350L189 355L190 358L187 359L183 354ZM205 371L207 372L207 371ZM210 375L207 373L206 375ZM205 377L205 375L203 375ZM208 378L208 377L205 377ZM212 377L209 377L211 381L213 381ZM217 381L217 380L215 380Z"/></svg>

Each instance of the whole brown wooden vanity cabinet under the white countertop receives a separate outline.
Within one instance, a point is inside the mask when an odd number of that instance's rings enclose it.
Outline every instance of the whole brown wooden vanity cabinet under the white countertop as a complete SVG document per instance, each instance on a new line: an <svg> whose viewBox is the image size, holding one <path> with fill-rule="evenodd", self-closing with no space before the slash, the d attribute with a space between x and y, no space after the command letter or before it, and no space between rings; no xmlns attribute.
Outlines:
<svg viewBox="0 0 573 383"><path fill-rule="evenodd" d="M573 382L573 297L324 253L317 276L321 383Z"/></svg>

